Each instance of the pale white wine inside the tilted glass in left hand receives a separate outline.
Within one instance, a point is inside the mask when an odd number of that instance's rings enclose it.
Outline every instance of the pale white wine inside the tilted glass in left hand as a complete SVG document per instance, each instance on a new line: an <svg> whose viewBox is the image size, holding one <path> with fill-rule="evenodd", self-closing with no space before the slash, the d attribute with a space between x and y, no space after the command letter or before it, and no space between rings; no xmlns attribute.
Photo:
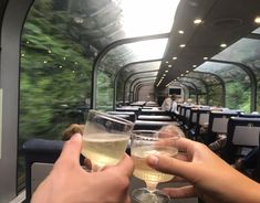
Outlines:
<svg viewBox="0 0 260 203"><path fill-rule="evenodd" d="M90 133L83 137L82 154L98 167L114 165L124 157L128 140L128 135Z"/></svg>

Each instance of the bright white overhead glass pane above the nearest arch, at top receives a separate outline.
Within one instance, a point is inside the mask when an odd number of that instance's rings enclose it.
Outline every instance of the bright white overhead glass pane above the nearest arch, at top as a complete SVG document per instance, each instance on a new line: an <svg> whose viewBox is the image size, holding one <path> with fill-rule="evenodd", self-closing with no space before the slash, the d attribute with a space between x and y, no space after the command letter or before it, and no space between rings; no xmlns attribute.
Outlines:
<svg viewBox="0 0 260 203"><path fill-rule="evenodd" d="M126 38L170 32L179 0L122 0Z"/></svg>

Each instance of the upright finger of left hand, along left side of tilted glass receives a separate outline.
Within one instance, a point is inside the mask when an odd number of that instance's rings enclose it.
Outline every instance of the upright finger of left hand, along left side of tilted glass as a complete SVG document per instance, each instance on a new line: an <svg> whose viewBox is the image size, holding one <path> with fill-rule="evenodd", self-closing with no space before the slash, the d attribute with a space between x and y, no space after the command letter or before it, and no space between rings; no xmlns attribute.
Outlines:
<svg viewBox="0 0 260 203"><path fill-rule="evenodd" d="M67 163L80 164L81 147L82 136L80 133L73 135L71 139L64 143L59 162L65 161Z"/></svg>

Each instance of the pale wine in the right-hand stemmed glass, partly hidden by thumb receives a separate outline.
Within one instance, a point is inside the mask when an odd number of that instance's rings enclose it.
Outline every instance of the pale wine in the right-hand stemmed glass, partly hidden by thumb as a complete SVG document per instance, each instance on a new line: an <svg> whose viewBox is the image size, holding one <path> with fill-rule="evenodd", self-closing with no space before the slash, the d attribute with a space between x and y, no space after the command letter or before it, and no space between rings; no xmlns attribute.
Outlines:
<svg viewBox="0 0 260 203"><path fill-rule="evenodd" d="M142 146L131 149L132 159L135 163L134 175L146 182L158 183L166 182L174 178L171 174L162 173L148 167L146 164L145 158L149 154L166 154L174 157L178 153L178 150L173 147L153 147L153 146Z"/></svg>

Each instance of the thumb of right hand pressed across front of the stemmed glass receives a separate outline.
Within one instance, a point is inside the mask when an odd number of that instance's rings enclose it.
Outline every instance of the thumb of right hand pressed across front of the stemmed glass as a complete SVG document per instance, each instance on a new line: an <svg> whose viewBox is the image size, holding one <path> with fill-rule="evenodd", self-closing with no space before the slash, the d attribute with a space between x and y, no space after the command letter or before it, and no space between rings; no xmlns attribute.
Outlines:
<svg viewBox="0 0 260 203"><path fill-rule="evenodd" d="M148 156L146 159L149 167L155 170L193 180L195 170L193 163L166 156Z"/></svg>

